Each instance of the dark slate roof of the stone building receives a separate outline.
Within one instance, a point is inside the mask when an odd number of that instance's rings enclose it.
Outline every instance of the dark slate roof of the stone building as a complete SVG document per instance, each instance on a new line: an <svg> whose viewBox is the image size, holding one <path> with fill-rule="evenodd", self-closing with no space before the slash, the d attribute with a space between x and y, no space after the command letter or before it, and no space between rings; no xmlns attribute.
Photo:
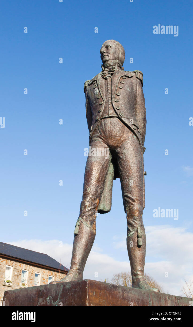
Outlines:
<svg viewBox="0 0 193 327"><path fill-rule="evenodd" d="M19 248L18 246L3 242L0 242L0 254L5 254L16 259L26 260L31 263L39 264L42 266L55 268L58 270L60 269L61 271L69 270L63 265L60 265L59 262L57 262L55 259L51 258L47 254Z"/></svg>

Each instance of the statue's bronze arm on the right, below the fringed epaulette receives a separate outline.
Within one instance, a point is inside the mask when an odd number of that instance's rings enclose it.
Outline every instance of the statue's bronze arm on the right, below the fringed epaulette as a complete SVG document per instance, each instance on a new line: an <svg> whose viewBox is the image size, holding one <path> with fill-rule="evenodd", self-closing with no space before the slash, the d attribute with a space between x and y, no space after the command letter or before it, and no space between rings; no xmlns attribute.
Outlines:
<svg viewBox="0 0 193 327"><path fill-rule="evenodd" d="M144 146L145 133L146 133L146 109L145 109L145 98L142 89L142 82L138 78L137 78L137 94L136 94L135 111L136 111L137 123L141 132L142 146Z"/></svg>

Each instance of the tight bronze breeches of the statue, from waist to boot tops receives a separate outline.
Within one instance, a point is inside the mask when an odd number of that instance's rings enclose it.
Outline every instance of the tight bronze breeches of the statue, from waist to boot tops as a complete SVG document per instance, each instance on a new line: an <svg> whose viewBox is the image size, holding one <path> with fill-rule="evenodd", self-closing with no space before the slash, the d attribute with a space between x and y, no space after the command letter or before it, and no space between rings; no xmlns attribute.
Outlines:
<svg viewBox="0 0 193 327"><path fill-rule="evenodd" d="M83 220L96 232L97 208L112 156L113 160L117 161L126 207L127 235L136 231L137 227L144 232L142 222L144 171L141 148L134 133L116 117L102 119L92 135L90 155L85 168L79 221Z"/></svg>

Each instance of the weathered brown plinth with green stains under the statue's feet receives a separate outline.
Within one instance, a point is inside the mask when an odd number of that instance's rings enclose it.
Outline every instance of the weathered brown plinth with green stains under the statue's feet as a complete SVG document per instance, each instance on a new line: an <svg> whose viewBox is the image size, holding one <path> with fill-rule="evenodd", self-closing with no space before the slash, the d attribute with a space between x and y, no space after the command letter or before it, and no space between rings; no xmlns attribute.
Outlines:
<svg viewBox="0 0 193 327"><path fill-rule="evenodd" d="M188 306L191 299L85 279L6 291L5 305Z"/></svg>

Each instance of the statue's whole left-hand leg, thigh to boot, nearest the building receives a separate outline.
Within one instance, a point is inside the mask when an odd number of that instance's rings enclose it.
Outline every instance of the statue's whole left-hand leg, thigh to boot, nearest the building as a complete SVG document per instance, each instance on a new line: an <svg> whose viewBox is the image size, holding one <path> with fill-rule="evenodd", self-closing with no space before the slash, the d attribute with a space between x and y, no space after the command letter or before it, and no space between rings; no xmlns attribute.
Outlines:
<svg viewBox="0 0 193 327"><path fill-rule="evenodd" d="M95 140L95 142L91 144L91 149L102 147L107 148L105 143L101 140ZM88 156L87 158L83 199L80 205L80 215L74 230L71 267L67 275L65 275L61 281L51 282L50 284L79 281L83 279L84 267L96 235L97 208L103 193L110 162L110 152L108 158L99 155Z"/></svg>

